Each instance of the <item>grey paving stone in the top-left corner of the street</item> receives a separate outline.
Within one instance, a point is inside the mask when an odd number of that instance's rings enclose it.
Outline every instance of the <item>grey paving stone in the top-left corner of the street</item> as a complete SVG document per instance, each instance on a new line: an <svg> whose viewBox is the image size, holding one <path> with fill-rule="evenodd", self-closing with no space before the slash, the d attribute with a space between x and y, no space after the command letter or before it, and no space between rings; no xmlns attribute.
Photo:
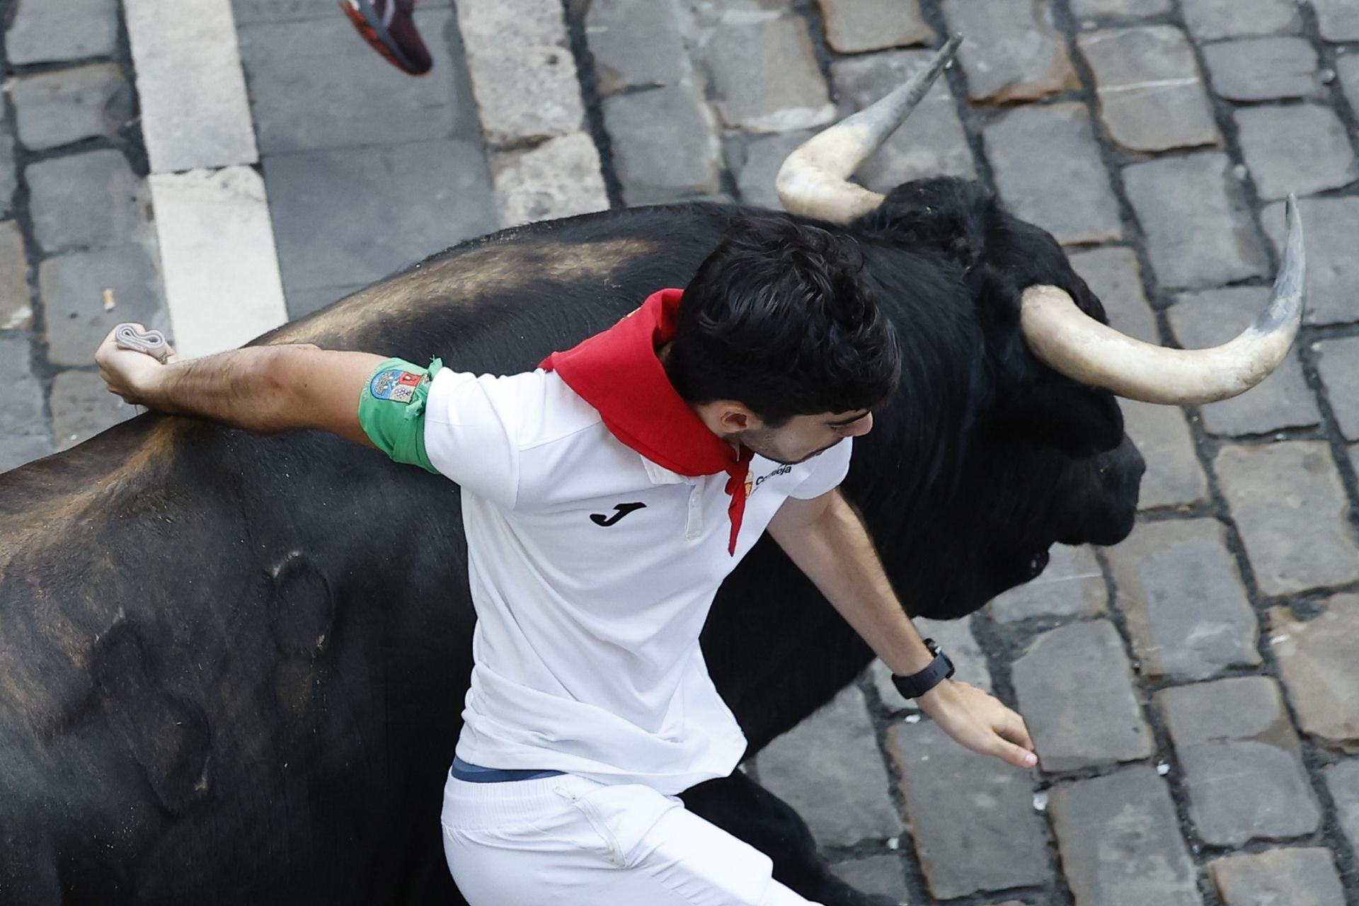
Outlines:
<svg viewBox="0 0 1359 906"><path fill-rule="evenodd" d="M106 57L118 46L118 0L19 0L15 7L4 39L11 65Z"/></svg>

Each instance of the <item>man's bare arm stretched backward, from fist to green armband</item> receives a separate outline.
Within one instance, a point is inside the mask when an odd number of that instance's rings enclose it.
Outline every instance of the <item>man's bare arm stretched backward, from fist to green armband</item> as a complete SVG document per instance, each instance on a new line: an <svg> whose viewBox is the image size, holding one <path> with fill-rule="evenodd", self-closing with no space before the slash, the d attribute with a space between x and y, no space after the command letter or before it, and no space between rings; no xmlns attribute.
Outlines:
<svg viewBox="0 0 1359 906"><path fill-rule="evenodd" d="M140 325L139 325L140 329ZM125 401L250 431L319 428L368 447L359 397L382 356L313 345L247 346L166 364L120 349L110 333L95 353L99 376Z"/></svg>

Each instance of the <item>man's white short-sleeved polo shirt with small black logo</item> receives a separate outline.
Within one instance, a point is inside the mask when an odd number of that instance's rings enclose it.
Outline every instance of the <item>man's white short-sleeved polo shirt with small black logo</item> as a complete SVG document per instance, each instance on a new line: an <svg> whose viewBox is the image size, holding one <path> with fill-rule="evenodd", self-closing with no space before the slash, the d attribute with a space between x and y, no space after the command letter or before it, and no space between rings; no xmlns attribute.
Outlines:
<svg viewBox="0 0 1359 906"><path fill-rule="evenodd" d="M699 633L783 501L841 482L849 440L796 466L754 456L733 556L726 473L643 458L556 372L444 368L424 424L462 486L477 611L458 757L663 793L730 774L746 739Z"/></svg>

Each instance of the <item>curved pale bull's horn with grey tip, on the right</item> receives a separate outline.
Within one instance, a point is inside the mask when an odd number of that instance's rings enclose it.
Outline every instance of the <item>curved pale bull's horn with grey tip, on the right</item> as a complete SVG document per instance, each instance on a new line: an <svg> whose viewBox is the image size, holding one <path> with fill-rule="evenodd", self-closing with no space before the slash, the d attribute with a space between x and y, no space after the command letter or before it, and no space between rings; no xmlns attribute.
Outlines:
<svg viewBox="0 0 1359 906"><path fill-rule="evenodd" d="M1056 287L1029 287L1021 323L1029 349L1053 371L1128 399L1192 406L1250 390L1279 367L1302 323L1307 262L1302 217L1288 196L1288 240L1269 307L1212 349L1166 349L1090 318Z"/></svg>

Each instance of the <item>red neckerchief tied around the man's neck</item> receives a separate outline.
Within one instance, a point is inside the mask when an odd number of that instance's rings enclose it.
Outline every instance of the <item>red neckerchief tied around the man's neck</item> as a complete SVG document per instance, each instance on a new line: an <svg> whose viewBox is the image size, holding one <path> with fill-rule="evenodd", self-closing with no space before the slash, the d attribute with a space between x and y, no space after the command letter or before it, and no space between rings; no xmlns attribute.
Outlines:
<svg viewBox="0 0 1359 906"><path fill-rule="evenodd" d="M568 387L599 410L614 437L658 466L689 477L727 473L731 494L727 553L735 556L746 512L746 473L754 454L745 447L738 454L708 431L670 386L656 359L656 349L674 337L682 295L682 289L652 293L613 327L572 349L552 353L540 368L561 375Z"/></svg>

